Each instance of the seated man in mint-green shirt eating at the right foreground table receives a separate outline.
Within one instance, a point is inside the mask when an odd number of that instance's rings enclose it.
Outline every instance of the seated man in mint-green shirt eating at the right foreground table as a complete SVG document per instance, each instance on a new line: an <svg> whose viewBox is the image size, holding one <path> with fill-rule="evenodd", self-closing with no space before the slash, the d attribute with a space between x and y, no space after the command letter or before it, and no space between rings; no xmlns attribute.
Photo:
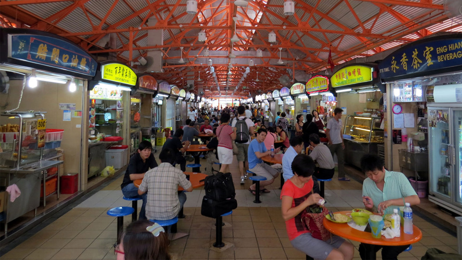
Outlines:
<svg viewBox="0 0 462 260"><path fill-rule="evenodd" d="M367 178L363 182L363 203L366 210L380 214L392 214L393 209L404 206L420 204L417 193L412 188L403 173L385 170L384 161L377 155L364 155L361 158L361 169ZM372 247L377 252L382 249L382 259L395 260L398 254L404 251L405 246L378 246L361 243L359 255L365 259L365 248Z"/></svg>

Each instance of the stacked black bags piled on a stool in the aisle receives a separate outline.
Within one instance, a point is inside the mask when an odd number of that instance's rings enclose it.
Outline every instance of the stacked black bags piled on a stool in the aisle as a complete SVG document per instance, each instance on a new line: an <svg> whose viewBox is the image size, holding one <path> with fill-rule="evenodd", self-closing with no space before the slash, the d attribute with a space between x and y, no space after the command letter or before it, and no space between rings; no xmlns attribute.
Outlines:
<svg viewBox="0 0 462 260"><path fill-rule="evenodd" d="M205 178L205 196L202 198L201 215L219 217L237 208L236 192L231 173L217 173Z"/></svg>

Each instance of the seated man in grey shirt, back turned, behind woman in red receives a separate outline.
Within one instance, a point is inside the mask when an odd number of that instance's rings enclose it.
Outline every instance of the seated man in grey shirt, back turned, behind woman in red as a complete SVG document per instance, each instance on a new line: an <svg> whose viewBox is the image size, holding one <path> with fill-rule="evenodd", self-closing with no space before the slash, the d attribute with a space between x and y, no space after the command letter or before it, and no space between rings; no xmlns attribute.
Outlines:
<svg viewBox="0 0 462 260"><path fill-rule="evenodd" d="M317 134L310 135L310 150L309 156L319 165L313 174L319 179L331 179L335 172L334 159L329 148L319 142Z"/></svg>

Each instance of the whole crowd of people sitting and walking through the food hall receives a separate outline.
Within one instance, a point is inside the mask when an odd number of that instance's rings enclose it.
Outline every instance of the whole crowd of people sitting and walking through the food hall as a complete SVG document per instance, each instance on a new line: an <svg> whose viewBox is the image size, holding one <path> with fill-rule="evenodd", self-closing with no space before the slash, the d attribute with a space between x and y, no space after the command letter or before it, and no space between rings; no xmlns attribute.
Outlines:
<svg viewBox="0 0 462 260"><path fill-rule="evenodd" d="M159 154L159 164L151 153L150 142L143 141L138 153L130 158L121 188L127 198L140 198L143 204L139 221L126 228L116 247L117 259L170 259L168 239L165 230L149 220L168 220L178 216L187 196L177 192L178 186L184 191L193 190L185 172L185 151L190 144L198 143L195 136L210 149L204 153L207 160L205 172L212 174L212 165L220 163L220 172L230 172L229 165L237 157L240 183L247 178L246 169L266 180L260 182L260 190L255 184L249 187L252 194L271 192L267 187L282 174L285 183L280 194L281 214L286 221L289 240L294 248L314 259L353 259L353 245L343 238L331 235L327 241L311 235L310 229L302 225L301 212L318 203L317 178L330 179L335 173L334 154L338 160L338 180L349 181L343 167L344 144L341 135L340 108L335 108L333 118L326 126L317 111L297 115L294 119L295 131L288 130L292 118L290 111L278 111L276 117L271 109L250 109L248 105L207 110L190 107L186 124L177 129L164 143ZM265 119L268 119L265 124ZM274 120L273 120L274 119ZM196 122L203 122L201 127ZM324 128L325 127L325 128ZM320 132L325 130L325 134ZM321 142L327 138L327 145ZM277 142L277 141L282 142ZM274 150L272 151L271 149ZM284 153L282 164L268 165L262 157L271 153ZM176 167L179 165L179 169ZM361 167L366 176L363 186L363 202L367 210L390 212L405 203L419 204L419 198L405 176L389 172L384 168L383 159L377 155L365 155ZM134 180L142 179L140 186ZM387 181L385 181L387 180ZM359 246L361 257L365 247ZM378 251L381 247L376 246ZM383 247L383 259L397 259L407 246ZM125 257L125 258L124 258ZM364 258L363 258L364 259Z"/></svg>

